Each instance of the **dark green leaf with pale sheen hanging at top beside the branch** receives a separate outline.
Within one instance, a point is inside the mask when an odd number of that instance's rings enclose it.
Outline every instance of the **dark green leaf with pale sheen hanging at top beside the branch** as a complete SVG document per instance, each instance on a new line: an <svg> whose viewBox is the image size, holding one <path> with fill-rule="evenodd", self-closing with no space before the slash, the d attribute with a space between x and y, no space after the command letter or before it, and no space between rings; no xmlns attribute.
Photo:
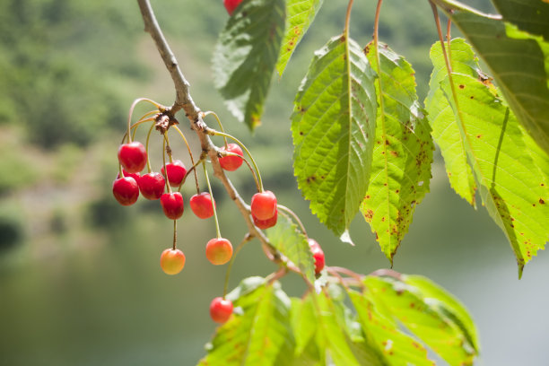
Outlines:
<svg viewBox="0 0 549 366"><path fill-rule="evenodd" d="M248 0L222 30L213 53L213 80L232 115L250 130L264 102L283 39L285 0Z"/></svg>

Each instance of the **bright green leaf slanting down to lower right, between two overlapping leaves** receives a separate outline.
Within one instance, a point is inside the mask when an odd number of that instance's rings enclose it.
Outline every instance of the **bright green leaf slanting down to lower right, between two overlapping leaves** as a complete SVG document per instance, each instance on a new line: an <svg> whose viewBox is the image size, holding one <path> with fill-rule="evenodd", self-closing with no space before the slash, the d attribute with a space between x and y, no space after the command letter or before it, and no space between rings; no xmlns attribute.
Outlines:
<svg viewBox="0 0 549 366"><path fill-rule="evenodd" d="M475 344L469 343L463 328L455 322L457 316L449 317L446 311L440 311L444 297L425 296L420 288L392 277L368 276L364 284L379 313L398 319L450 366L473 364L477 354ZM451 309L449 306L446 310Z"/></svg>

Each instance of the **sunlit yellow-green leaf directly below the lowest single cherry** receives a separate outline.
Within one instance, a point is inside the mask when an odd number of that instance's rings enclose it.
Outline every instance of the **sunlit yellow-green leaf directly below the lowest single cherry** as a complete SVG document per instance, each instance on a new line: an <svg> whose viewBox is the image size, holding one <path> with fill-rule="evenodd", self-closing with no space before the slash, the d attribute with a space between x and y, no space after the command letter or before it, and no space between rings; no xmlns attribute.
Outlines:
<svg viewBox="0 0 549 366"><path fill-rule="evenodd" d="M246 280L245 280L246 281ZM217 329L199 365L279 365L292 360L290 299L279 283L243 283L227 297L234 314Z"/></svg>

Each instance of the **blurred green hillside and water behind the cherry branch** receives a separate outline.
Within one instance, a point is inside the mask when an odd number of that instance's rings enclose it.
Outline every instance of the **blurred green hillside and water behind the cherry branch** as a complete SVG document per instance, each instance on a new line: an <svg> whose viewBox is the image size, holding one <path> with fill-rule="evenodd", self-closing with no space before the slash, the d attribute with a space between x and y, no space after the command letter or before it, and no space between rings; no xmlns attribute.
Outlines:
<svg viewBox="0 0 549 366"><path fill-rule="evenodd" d="M353 39L365 45L375 2L355 3ZM469 3L491 10L487 1ZM213 45L228 17L222 1L153 7L196 104L215 110L248 145L266 187L300 214L327 264L363 274L388 267L361 217L351 227L356 247L340 242L309 213L292 175L292 100L312 52L343 30L346 2L325 1L286 74L274 78L254 135L213 89ZM387 1L381 15L380 38L414 65L421 100L436 39L431 18L420 0ZM187 210L179 223L187 264L167 276L159 257L170 247L172 225L159 202L122 207L112 197L127 109L138 97L170 105L174 92L134 1L0 1L0 365L193 365L205 353L215 329L208 306L222 294L225 274L204 255L213 221ZM140 107L135 118L147 110ZM192 140L186 118L179 120ZM161 145L152 146L160 157ZM183 144L173 147L188 166ZM475 211L451 191L438 152L432 173L431 193L416 208L394 269L429 276L466 304L481 336L479 365L546 365L549 256L540 252L518 281L509 243L480 203ZM254 193L247 170L229 175L242 196ZM222 188L213 189L222 234L236 244L245 225ZM193 185L183 192L188 199ZM274 269L254 241L237 257L230 287ZM303 291L292 275L283 286L291 295Z"/></svg>

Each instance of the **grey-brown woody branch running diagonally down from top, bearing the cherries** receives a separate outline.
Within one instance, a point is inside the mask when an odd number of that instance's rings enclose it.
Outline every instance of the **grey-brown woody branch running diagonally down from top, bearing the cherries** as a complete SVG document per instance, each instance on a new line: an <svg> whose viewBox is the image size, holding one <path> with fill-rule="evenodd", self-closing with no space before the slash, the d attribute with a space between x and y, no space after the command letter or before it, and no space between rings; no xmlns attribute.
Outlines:
<svg viewBox="0 0 549 366"><path fill-rule="evenodd" d="M169 109L165 110L165 113L169 114L170 117L174 117L175 113L180 109L185 111L185 114L190 121L191 128L196 132L198 140L200 141L202 151L207 154L210 161L212 161L213 176L222 182L227 194L239 208L240 213L248 226L249 234L261 241L264 247L268 248L272 256L270 257L271 260L276 263L286 262L285 258L281 257L276 248L271 245L263 231L258 230L254 225L250 216L249 205L242 199L239 192L232 185L231 180L227 178L225 172L222 170L218 160L220 156L219 149L212 143L212 140L208 135L209 128L205 125L205 122L202 119L204 117L204 113L196 106L194 100L191 98L189 92L190 85L187 82L185 75L181 72L178 60L171 51L170 45L162 33L149 0L137 0L137 4L139 4L139 9L143 17L144 30L153 38L162 61L170 73L176 90L176 100Z"/></svg>

